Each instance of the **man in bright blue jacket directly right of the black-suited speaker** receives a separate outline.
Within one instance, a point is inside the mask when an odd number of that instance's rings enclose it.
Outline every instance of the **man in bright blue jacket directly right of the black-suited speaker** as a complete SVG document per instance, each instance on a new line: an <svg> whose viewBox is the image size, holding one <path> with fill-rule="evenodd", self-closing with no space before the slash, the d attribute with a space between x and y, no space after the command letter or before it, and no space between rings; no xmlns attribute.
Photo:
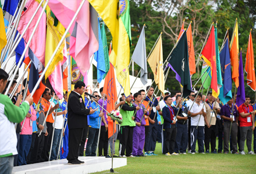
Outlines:
<svg viewBox="0 0 256 174"><path fill-rule="evenodd" d="M95 96L97 99L94 99L95 102L98 103L98 100L101 98L97 91L93 93L93 96ZM99 110L98 104L95 102L91 103L91 107L95 112L91 115L89 115L90 118L90 125L89 125L89 135L88 140L86 144L86 156L90 157L96 156L96 148L97 148L97 142L98 142L98 135L99 135L99 126L101 125L101 117L104 115ZM98 108L98 109L97 109Z"/></svg>

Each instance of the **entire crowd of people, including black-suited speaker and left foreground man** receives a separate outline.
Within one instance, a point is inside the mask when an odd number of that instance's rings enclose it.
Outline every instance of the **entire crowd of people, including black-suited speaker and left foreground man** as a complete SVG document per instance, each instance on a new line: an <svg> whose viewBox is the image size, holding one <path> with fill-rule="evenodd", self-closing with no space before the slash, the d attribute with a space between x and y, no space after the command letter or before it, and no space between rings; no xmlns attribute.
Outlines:
<svg viewBox="0 0 256 174"><path fill-rule="evenodd" d="M246 96L241 106L236 105L236 97L222 104L211 91L207 96L191 92L189 99L184 100L181 92L171 96L165 90L164 96L156 99L154 88L147 86L146 90L128 97L122 94L115 109L120 110L123 122L116 124L117 131L109 138L103 88L99 93L94 91L90 99L85 94L86 85L78 81L69 98L67 92L63 93L62 103L53 91L45 89L37 104L30 95L21 102L23 96L17 95L18 90L9 99L16 81L8 95L3 95L7 79L8 74L0 69L0 171L3 173L11 171L12 166L58 158L67 158L68 164L83 164L78 157L84 156L84 149L86 156L106 158L112 154L113 157L158 155L157 142L162 143L164 155L195 154L196 142L198 153L202 154L245 155L245 141L247 154L256 153L255 104L250 96ZM118 154L116 139L120 140Z"/></svg>

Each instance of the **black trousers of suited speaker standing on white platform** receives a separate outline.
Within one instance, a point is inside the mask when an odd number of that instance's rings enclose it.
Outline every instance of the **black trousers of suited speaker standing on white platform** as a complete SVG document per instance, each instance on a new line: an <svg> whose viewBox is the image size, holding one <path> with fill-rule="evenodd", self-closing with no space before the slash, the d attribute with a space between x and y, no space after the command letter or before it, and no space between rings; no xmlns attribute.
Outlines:
<svg viewBox="0 0 256 174"><path fill-rule="evenodd" d="M79 146L82 136L83 128L69 129L69 154L67 154L67 160L69 162L73 162L78 159Z"/></svg>

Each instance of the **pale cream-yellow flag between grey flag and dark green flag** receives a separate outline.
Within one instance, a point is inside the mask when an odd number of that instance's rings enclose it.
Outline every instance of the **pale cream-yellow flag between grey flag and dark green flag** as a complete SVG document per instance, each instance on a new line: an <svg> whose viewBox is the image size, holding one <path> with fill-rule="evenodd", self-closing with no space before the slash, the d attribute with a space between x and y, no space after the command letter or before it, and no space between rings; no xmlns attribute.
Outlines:
<svg viewBox="0 0 256 174"><path fill-rule="evenodd" d="M163 49L162 49L162 35L160 36L154 50L150 57L148 57L148 64L152 72L154 73L155 84L158 85L158 89L164 93L165 79L163 75Z"/></svg>

